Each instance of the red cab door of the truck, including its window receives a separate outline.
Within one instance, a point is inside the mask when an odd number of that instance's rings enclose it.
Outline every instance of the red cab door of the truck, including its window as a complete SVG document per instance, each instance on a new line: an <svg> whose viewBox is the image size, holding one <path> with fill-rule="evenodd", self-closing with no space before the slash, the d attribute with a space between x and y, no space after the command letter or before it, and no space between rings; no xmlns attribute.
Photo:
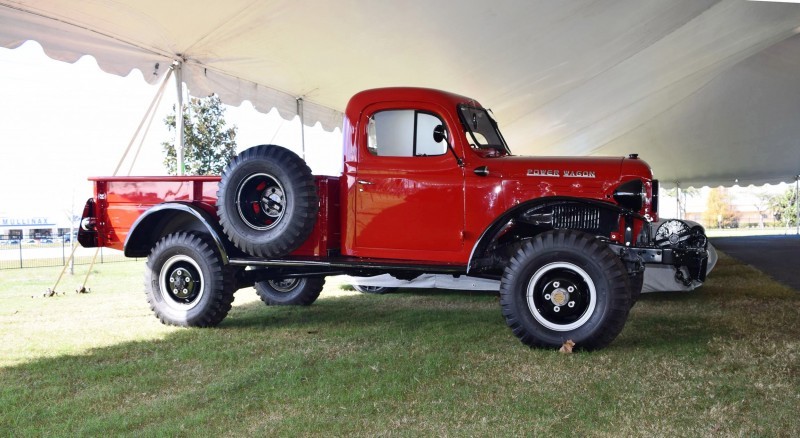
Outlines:
<svg viewBox="0 0 800 438"><path fill-rule="evenodd" d="M358 255L455 260L463 250L464 173L447 141L434 139L445 120L431 108L385 106L364 117L356 177Z"/></svg>

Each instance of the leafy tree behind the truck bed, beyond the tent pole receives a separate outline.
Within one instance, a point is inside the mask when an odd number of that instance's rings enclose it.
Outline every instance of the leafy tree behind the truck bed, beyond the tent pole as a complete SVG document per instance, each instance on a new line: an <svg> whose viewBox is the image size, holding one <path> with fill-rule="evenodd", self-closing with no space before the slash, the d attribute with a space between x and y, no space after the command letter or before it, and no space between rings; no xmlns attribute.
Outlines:
<svg viewBox="0 0 800 438"><path fill-rule="evenodd" d="M190 117L191 113L191 117ZM164 119L175 132L175 107ZM225 123L225 108L216 94L192 97L183 106L184 169L186 175L216 175L236 156L236 125ZM164 165L170 175L178 174L175 139L161 143Z"/></svg>

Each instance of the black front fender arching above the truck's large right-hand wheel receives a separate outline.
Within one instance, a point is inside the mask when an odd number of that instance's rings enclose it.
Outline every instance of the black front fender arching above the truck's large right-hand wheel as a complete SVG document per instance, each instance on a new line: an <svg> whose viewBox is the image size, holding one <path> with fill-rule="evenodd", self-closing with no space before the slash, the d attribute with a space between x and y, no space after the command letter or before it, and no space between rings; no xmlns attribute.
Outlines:
<svg viewBox="0 0 800 438"><path fill-rule="evenodd" d="M494 251L508 233L513 233L512 241L531 238L552 229L574 229L608 236L619 230L620 217L645 220L637 212L594 199L553 196L520 203L484 230L472 248L467 272L496 265Z"/></svg>

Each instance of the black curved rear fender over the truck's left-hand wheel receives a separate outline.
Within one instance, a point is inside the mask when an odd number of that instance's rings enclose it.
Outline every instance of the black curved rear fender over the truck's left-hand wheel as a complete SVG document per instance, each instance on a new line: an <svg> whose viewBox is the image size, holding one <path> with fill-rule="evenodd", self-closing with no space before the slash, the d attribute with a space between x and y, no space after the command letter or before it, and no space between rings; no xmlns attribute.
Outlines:
<svg viewBox="0 0 800 438"><path fill-rule="evenodd" d="M126 257L147 257L162 237L178 231L199 231L211 236L222 262L228 263L231 248L219 221L206 210L189 202L165 202L145 211L131 226L125 239Z"/></svg>

